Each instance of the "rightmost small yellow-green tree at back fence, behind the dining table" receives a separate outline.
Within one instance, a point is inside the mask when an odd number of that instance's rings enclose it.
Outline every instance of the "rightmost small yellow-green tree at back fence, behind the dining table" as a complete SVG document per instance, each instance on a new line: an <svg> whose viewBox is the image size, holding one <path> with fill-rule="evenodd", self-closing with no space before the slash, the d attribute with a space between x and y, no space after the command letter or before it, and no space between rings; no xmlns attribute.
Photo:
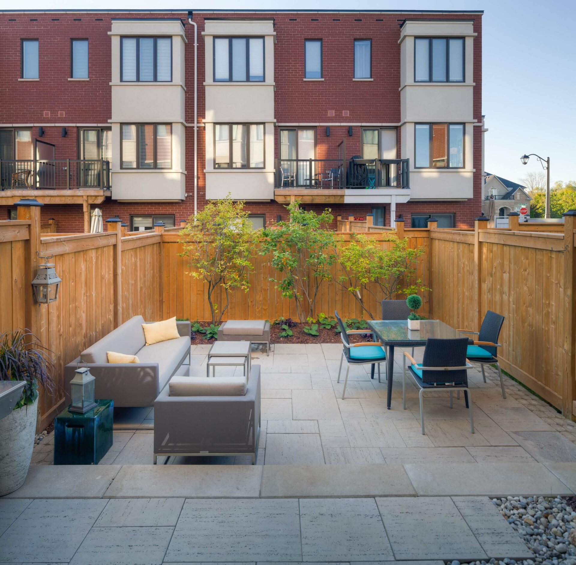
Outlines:
<svg viewBox="0 0 576 565"><path fill-rule="evenodd" d="M395 294L415 294L427 290L422 280L416 279L418 257L422 248L411 249L406 238L386 233L384 245L362 234L353 234L350 242L340 241L336 255L342 274L336 282L347 290L373 320L367 297L377 303L391 299Z"/></svg>

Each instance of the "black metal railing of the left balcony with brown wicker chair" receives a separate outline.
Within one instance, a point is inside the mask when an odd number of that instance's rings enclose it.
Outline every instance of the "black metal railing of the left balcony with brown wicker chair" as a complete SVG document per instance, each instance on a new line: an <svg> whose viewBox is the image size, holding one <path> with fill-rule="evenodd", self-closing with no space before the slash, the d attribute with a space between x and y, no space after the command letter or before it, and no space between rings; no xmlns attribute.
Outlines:
<svg viewBox="0 0 576 565"><path fill-rule="evenodd" d="M0 160L0 187L14 189L110 188L110 162L103 160Z"/></svg>

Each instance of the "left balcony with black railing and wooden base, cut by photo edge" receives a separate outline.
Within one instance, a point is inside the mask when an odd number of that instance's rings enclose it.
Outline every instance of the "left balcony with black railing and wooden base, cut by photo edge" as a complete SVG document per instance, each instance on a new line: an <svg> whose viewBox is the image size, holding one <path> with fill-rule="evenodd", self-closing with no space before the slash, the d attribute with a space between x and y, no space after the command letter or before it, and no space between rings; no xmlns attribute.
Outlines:
<svg viewBox="0 0 576 565"><path fill-rule="evenodd" d="M31 196L44 204L100 204L110 196L110 163L103 160L0 160L0 204Z"/></svg>

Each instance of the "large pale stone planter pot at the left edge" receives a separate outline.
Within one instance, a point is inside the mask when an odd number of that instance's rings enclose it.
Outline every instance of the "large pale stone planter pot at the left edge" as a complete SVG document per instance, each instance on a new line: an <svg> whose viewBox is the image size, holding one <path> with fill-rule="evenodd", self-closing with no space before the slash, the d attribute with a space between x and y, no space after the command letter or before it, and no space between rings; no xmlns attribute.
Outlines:
<svg viewBox="0 0 576 565"><path fill-rule="evenodd" d="M0 420L0 496L20 488L26 479L34 447L37 414L38 399Z"/></svg>

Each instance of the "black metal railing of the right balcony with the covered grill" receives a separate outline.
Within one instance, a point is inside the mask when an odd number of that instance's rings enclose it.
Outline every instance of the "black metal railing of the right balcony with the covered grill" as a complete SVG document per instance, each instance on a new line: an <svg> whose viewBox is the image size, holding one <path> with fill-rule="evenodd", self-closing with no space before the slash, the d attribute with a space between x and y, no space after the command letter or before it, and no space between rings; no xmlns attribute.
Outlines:
<svg viewBox="0 0 576 565"><path fill-rule="evenodd" d="M278 159L276 188L409 188L408 159Z"/></svg>

